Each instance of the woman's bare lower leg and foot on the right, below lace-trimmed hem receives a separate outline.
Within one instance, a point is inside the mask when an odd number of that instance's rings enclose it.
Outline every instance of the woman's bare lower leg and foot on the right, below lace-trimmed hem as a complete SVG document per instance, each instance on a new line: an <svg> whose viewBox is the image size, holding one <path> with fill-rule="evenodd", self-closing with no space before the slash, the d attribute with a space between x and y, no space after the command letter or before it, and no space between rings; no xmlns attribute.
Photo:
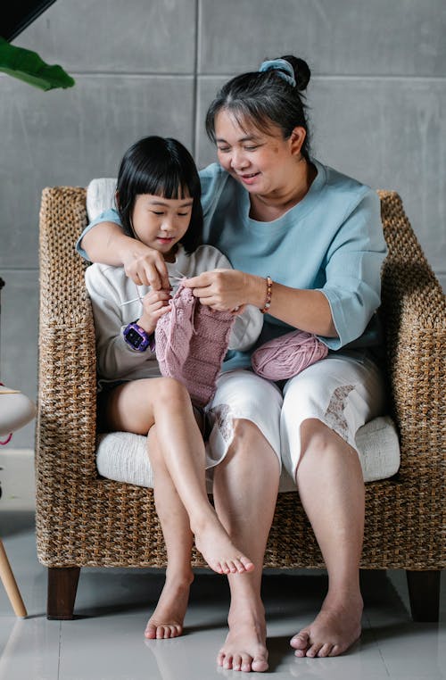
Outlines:
<svg viewBox="0 0 446 680"><path fill-rule="evenodd" d="M294 635L291 645L299 657L337 656L361 631L359 559L365 491L357 452L320 420L305 420L296 484L326 563L329 585L318 617Z"/></svg>

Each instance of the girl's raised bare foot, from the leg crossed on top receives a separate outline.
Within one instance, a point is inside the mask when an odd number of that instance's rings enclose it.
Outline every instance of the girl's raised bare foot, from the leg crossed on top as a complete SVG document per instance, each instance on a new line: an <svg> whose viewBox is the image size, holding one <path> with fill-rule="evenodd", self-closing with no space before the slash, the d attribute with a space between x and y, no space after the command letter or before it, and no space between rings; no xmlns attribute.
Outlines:
<svg viewBox="0 0 446 680"><path fill-rule="evenodd" d="M197 550L217 574L243 574L254 569L252 561L232 543L217 516L191 528Z"/></svg>

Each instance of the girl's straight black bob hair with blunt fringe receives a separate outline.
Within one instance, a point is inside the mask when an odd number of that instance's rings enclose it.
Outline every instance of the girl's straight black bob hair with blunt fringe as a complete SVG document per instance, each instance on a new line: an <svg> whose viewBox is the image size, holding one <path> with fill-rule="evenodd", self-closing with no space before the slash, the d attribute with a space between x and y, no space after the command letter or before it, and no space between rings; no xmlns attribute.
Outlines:
<svg viewBox="0 0 446 680"><path fill-rule="evenodd" d="M120 162L117 205L123 227L137 237L132 224L136 196L194 200L189 228L180 239L186 253L202 243L202 186L194 159L177 139L143 137L130 146Z"/></svg>

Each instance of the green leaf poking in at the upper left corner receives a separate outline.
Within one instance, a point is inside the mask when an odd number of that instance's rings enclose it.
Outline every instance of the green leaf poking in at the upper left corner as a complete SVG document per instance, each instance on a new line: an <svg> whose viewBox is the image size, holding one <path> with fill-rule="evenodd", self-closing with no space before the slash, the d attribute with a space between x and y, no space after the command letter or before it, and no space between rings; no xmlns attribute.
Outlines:
<svg viewBox="0 0 446 680"><path fill-rule="evenodd" d="M75 81L62 66L49 66L36 52L11 45L0 37L0 70L42 90L73 87Z"/></svg>

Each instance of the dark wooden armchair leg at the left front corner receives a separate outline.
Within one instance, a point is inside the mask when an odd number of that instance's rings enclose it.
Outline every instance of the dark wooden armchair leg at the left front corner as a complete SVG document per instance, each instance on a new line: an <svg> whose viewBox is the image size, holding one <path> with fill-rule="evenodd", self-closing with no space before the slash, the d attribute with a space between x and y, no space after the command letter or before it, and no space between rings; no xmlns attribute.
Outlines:
<svg viewBox="0 0 446 680"><path fill-rule="evenodd" d="M80 567L48 568L48 600L46 618L70 621L78 590Z"/></svg>

